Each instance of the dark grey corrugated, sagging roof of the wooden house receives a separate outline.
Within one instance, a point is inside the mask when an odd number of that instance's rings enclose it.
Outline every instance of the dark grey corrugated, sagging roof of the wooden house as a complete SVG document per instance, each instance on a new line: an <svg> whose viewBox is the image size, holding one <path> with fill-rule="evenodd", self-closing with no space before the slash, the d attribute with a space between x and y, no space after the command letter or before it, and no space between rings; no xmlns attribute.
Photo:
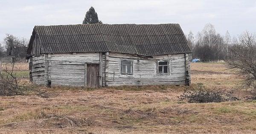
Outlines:
<svg viewBox="0 0 256 134"><path fill-rule="evenodd" d="M179 24L35 26L41 53L116 52L153 56L191 52Z"/></svg>

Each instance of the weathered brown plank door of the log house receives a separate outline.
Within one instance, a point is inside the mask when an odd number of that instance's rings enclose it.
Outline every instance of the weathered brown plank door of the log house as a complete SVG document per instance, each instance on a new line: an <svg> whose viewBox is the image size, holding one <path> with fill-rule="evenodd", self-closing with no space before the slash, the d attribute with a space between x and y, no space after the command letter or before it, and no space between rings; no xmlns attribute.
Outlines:
<svg viewBox="0 0 256 134"><path fill-rule="evenodd" d="M99 87L99 64L87 64L87 87Z"/></svg>

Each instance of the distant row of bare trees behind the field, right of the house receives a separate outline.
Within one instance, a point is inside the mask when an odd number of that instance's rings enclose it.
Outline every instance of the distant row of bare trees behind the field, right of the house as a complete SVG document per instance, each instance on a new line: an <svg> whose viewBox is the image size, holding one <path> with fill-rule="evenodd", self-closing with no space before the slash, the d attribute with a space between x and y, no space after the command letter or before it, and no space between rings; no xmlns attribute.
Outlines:
<svg viewBox="0 0 256 134"><path fill-rule="evenodd" d="M253 39L255 34L244 31L238 36L231 37L227 31L225 35L221 35L210 23L206 24L198 34L194 35L190 31L186 35L189 48L193 52L192 57L201 59L229 59L230 49L246 42L249 37Z"/></svg>

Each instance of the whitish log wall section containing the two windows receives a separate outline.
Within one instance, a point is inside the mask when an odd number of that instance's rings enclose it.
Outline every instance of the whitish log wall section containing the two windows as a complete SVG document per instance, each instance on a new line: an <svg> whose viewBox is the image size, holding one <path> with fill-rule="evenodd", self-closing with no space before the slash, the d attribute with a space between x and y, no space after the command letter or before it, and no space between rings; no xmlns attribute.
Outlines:
<svg viewBox="0 0 256 134"><path fill-rule="evenodd" d="M133 74L121 74L122 59L133 62ZM169 74L157 74L157 62L169 62ZM122 85L185 85L185 55L169 54L153 57L137 57L131 54L106 53L106 86ZM189 74L190 76L190 74Z"/></svg>

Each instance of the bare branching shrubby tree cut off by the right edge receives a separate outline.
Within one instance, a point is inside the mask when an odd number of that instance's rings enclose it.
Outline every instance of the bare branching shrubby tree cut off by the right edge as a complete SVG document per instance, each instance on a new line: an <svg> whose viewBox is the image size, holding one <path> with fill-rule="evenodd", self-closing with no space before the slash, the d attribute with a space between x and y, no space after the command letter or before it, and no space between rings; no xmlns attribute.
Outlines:
<svg viewBox="0 0 256 134"><path fill-rule="evenodd" d="M256 36L245 31L239 36L239 43L230 48L230 68L235 68L244 78L243 86L252 87L256 98Z"/></svg>

